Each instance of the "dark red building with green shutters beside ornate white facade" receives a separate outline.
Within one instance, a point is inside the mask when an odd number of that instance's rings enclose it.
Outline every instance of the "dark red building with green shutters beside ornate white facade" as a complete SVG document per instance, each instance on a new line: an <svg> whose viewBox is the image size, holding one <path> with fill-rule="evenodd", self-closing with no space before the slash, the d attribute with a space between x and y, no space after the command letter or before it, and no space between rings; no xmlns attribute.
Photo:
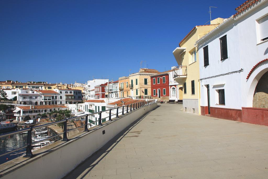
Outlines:
<svg viewBox="0 0 268 179"><path fill-rule="evenodd" d="M151 96L153 99L169 100L169 71L151 76Z"/></svg>

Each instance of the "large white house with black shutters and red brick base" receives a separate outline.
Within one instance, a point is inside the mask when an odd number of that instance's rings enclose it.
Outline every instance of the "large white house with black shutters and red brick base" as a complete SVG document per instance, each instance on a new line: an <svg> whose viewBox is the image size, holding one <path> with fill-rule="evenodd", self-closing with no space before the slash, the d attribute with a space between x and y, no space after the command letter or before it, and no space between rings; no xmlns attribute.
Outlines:
<svg viewBox="0 0 268 179"><path fill-rule="evenodd" d="M201 114L268 125L268 0L236 10L196 42Z"/></svg>

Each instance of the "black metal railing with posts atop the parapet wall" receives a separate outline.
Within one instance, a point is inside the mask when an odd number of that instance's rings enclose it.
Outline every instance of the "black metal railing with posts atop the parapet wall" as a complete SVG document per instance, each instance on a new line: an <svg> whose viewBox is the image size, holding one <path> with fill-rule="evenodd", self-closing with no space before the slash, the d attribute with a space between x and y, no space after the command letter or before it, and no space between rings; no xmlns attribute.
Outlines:
<svg viewBox="0 0 268 179"><path fill-rule="evenodd" d="M41 143L43 141L46 141L46 140L49 140L51 138L60 136L62 134L63 134L62 141L68 141L69 139L67 138L67 132L76 130L76 129L81 128L81 127L85 128L84 132L88 132L89 131L88 130L88 125L91 125L93 123L97 124L97 122L98 122L98 125L102 126L102 120L103 119L109 118L109 121L112 121L111 116L116 115L116 118L119 118L119 113L122 113L121 115L125 115L124 112L129 113L129 112L135 111L136 109L139 109L139 108L142 108L144 106L151 105L151 104L154 104L154 103L156 103L156 100L148 100L148 101L142 101L142 102L138 102L138 103L132 103L130 105L124 105L122 107L115 107L115 108L107 109L105 111L95 112L95 113L92 113L92 114L86 114L86 115L77 116L77 117L73 117L73 118L66 118L66 119L56 121L56 122L51 122L51 123L48 123L48 124L43 124L43 125L40 125L40 126L36 126L36 127L28 127L27 129L21 129L21 130L15 131L15 132L9 132L9 133L5 133L5 134L1 134L0 138L7 137L7 136L10 136L10 135L14 135L14 134L20 134L20 133L23 133L23 132L27 131L27 144L24 145L23 147L19 147L19 148L13 149L12 151L9 151L9 152L6 152L4 154L1 154L0 157L4 156L4 155L11 154L12 152L16 152L16 151L24 149L24 148L26 148L26 154L25 154L24 157L33 157L32 145L34 145L34 144ZM125 107L126 107L126 109L124 109ZM118 112L119 108L122 108L122 111ZM116 113L111 114L111 111L114 110L114 109L116 109ZM109 111L109 116L107 116L105 118L102 118L102 113L107 112L107 111ZM95 115L95 114L99 114L99 120L96 120L94 122L88 123L88 116ZM84 118L84 117L85 117L85 125L80 126L80 127L76 127L74 129L71 129L71 130L67 131L67 122L68 121L71 121L71 120L74 120L74 119L79 119L79 118ZM56 124L59 124L59 123L64 123L62 133L59 133L59 134L57 134L55 136L48 137L48 138L45 138L43 140L39 140L37 142L32 143L32 130L39 129L41 127L47 127L47 126L51 126L51 125L56 125Z"/></svg>

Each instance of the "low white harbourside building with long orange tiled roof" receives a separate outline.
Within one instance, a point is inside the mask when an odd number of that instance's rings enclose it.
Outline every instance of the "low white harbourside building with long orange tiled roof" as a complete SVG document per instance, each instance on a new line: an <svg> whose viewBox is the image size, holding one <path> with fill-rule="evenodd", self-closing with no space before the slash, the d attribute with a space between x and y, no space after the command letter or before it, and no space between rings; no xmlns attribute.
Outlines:
<svg viewBox="0 0 268 179"><path fill-rule="evenodd" d="M64 105L29 105L29 106L16 106L16 109L13 111L16 116L17 121L23 121L26 116L29 116L31 119L38 119L41 116L38 114L44 114L51 111L59 111L67 109ZM47 115L48 117L49 115Z"/></svg>

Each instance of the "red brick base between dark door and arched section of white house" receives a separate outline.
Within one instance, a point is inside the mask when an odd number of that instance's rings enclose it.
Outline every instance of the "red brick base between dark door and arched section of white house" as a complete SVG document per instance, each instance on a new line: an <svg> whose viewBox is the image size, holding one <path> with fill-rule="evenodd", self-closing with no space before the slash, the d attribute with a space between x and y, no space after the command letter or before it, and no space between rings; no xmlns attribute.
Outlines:
<svg viewBox="0 0 268 179"><path fill-rule="evenodd" d="M242 110L210 107L210 117L220 118L220 119L229 119L229 120L235 120L235 121L241 122Z"/></svg>

